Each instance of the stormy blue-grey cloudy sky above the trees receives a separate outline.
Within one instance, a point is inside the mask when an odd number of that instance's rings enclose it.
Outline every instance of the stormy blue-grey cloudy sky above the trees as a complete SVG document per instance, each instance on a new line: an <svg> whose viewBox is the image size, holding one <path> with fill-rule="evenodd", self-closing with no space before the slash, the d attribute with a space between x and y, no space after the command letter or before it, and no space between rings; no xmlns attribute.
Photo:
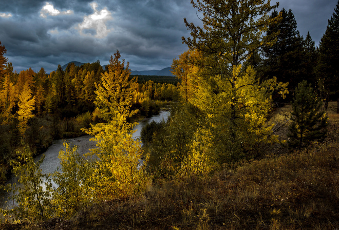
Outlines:
<svg viewBox="0 0 339 230"><path fill-rule="evenodd" d="M200 24L190 0L0 0L0 42L20 72L47 73L71 61L108 64L119 50L131 70L170 67L187 46L183 18ZM274 4L275 1L272 1ZM316 45L337 0L280 0Z"/></svg>

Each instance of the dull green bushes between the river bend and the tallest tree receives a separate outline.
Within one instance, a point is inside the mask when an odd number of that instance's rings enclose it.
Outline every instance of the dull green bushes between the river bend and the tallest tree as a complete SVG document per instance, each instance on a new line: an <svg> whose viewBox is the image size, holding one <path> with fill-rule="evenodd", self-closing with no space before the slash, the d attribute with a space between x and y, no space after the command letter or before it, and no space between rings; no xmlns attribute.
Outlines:
<svg viewBox="0 0 339 230"><path fill-rule="evenodd" d="M182 173L199 118L200 111L196 107L178 104L172 109L166 124L160 123L156 125L157 130L150 130L154 133L149 133L153 140L149 145L147 169L154 177L173 179Z"/></svg>

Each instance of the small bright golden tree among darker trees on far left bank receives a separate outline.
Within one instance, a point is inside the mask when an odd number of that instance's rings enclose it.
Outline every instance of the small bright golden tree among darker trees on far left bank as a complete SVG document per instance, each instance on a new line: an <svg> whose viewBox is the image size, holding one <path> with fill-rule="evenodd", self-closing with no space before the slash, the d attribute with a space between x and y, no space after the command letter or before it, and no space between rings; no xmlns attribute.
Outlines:
<svg viewBox="0 0 339 230"><path fill-rule="evenodd" d="M26 131L28 120L34 117L34 114L32 112L35 106L35 96L32 95L32 91L29 88L28 82L23 86L22 92L19 95L18 100L19 110L16 113L20 121L19 130L21 135L23 136Z"/></svg>

